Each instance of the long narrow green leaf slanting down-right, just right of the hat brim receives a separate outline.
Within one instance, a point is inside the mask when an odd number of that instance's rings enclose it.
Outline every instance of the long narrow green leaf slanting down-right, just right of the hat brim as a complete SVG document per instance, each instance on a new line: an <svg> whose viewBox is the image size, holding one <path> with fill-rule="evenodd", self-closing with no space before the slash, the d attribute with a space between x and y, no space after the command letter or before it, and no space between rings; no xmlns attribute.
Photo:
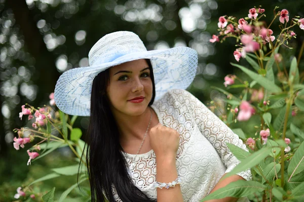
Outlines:
<svg viewBox="0 0 304 202"><path fill-rule="evenodd" d="M267 89L270 92L279 93L282 92L281 88L274 84L272 81L268 80L267 78L264 78L263 76L246 69L245 67L231 63L233 66L240 68L243 72L245 72L251 79L255 80L258 84L263 86L265 89Z"/></svg>

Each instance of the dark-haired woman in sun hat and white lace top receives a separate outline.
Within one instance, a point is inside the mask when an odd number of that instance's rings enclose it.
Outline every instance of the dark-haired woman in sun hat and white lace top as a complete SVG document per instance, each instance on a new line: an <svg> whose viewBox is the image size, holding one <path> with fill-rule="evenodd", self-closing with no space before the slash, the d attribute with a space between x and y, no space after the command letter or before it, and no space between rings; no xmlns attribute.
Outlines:
<svg viewBox="0 0 304 202"><path fill-rule="evenodd" d="M59 78L55 102L67 114L90 116L92 201L104 201L103 195L124 202L200 201L232 181L251 179L247 170L219 182L239 163L224 142L246 146L183 90L197 68L193 49L146 51L136 34L114 32L91 48L89 61L90 67Z"/></svg>

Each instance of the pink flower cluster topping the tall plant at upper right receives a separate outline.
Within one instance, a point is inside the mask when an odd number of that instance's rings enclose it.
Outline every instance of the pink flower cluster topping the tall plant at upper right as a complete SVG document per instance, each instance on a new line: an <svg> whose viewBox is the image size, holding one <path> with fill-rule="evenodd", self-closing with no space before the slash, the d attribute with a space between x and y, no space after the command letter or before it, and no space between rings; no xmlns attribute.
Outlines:
<svg viewBox="0 0 304 202"><path fill-rule="evenodd" d="M270 43L276 39L276 37L273 36L273 31L269 29L269 27L264 27L264 23L259 23L259 19L265 16L263 14L264 12L264 9L252 8L249 9L248 17L239 20L232 16L219 17L217 23L219 35L213 34L210 42L219 42L219 36L223 36L222 40L225 40L227 37L240 39L240 47L234 52L234 57L238 62L240 58L245 58L247 53L256 52L267 43L269 43L269 46L272 46ZM279 21L284 24L289 22L288 15L288 11L283 9L277 12L275 18L279 17ZM292 19L292 23L299 25L299 27L304 30L304 18L298 19L295 17ZM288 31L287 29L279 35L280 40L278 41L290 39L291 37L295 37L295 35L293 31Z"/></svg>

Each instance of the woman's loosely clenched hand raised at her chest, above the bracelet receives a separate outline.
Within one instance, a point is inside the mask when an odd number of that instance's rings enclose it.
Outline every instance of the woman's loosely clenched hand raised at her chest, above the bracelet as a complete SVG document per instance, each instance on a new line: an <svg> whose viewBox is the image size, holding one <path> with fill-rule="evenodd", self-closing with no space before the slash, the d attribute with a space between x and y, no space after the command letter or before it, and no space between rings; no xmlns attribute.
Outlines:
<svg viewBox="0 0 304 202"><path fill-rule="evenodd" d="M179 145L179 133L162 124L157 124L150 129L150 145L158 159L176 158L176 152Z"/></svg>

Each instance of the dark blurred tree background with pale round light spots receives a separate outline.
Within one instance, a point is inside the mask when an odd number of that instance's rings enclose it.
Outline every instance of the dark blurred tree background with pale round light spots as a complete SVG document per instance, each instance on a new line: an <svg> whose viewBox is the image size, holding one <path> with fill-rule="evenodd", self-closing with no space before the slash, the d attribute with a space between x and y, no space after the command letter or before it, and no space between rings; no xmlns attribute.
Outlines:
<svg viewBox="0 0 304 202"><path fill-rule="evenodd" d="M0 0L0 201L13 200L18 186L73 161L69 149L60 148L27 166L26 149L13 148L13 129L26 125L26 120L19 119L21 105L48 104L64 71L88 66L88 53L99 38L128 30L137 33L148 50L196 49L197 76L188 90L207 103L223 96L211 86L223 88L225 75L241 74L230 65L236 62L234 40L209 42L212 34L218 34L218 18L246 17L249 9L259 5L266 11L268 24L275 6L287 9L290 17L304 17L304 1L299 0ZM271 27L275 33L278 25L279 20ZM297 38L290 41L289 54L297 56L304 32L299 27L294 32ZM247 65L245 60L240 63ZM88 123L87 117L79 117L74 126L85 134ZM60 194L75 181L74 177L56 178L35 189L56 186ZM78 191L71 195L77 196Z"/></svg>

